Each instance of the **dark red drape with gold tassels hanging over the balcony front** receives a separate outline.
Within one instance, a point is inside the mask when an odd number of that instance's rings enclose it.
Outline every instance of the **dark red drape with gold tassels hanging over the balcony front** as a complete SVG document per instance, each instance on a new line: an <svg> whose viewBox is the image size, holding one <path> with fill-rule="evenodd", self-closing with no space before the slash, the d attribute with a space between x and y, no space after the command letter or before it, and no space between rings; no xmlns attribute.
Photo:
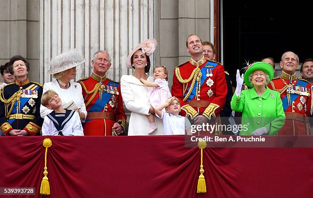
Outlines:
<svg viewBox="0 0 313 198"><path fill-rule="evenodd" d="M42 141L47 137L0 138L0 187L35 187L36 197L40 196ZM184 136L49 138L50 197L311 197L312 194L311 148L204 149L207 193L197 194L200 150L185 147Z"/></svg>

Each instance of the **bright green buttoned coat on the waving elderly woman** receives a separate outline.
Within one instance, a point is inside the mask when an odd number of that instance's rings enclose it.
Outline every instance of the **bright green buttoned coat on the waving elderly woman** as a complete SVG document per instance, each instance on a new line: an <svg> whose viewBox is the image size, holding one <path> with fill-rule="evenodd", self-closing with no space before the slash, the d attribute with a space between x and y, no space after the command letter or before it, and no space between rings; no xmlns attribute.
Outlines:
<svg viewBox="0 0 313 198"><path fill-rule="evenodd" d="M280 94L267 86L260 96L255 88L241 91L240 97L234 93L231 107L234 111L242 112L240 135L252 135L253 131L264 126L268 134L276 135L285 123Z"/></svg>

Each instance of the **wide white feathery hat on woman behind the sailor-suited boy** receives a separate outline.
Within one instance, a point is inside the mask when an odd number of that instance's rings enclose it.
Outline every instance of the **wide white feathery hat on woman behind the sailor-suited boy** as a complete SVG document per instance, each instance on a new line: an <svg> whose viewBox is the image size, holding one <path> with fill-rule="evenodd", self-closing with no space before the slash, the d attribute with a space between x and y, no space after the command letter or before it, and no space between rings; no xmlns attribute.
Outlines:
<svg viewBox="0 0 313 198"><path fill-rule="evenodd" d="M71 69L85 62L84 58L74 49L63 52L50 61L48 73L54 74Z"/></svg>

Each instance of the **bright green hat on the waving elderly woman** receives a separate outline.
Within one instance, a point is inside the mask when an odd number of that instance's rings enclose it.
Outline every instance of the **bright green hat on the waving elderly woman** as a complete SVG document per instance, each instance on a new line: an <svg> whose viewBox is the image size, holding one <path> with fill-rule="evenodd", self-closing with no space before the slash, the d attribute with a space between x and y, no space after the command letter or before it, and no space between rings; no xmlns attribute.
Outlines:
<svg viewBox="0 0 313 198"><path fill-rule="evenodd" d="M253 87L253 85L249 82L249 76L255 70L264 71L267 75L269 75L270 81L272 81L274 77L274 69L272 65L270 65L269 63L265 63L265 62L255 62L245 71L244 76L243 76L244 83L248 85L249 87Z"/></svg>

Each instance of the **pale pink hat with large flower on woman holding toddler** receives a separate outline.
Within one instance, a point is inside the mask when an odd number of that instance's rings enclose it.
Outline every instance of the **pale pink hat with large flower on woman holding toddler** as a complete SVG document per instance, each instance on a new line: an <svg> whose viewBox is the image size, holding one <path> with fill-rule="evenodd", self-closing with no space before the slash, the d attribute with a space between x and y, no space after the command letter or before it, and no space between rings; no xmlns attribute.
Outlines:
<svg viewBox="0 0 313 198"><path fill-rule="evenodd" d="M139 45L137 45L135 48L133 48L131 53L129 53L129 55L126 59L126 67L132 68L130 59L131 59L131 56L133 55L133 53L135 53L137 50L139 50L141 48L142 53L144 53L147 56L151 56L151 54L154 52L155 47L157 47L157 45L158 45L158 41L155 40L154 38L150 38L148 40L142 41Z"/></svg>

